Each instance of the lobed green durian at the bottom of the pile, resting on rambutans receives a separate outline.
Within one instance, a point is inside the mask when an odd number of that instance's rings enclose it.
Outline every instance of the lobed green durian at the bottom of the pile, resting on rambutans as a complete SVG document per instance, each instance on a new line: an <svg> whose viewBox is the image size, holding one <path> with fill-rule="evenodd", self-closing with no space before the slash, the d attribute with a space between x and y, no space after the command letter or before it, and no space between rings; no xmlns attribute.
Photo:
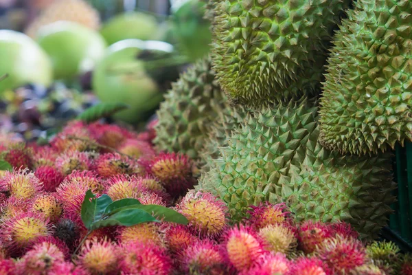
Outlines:
<svg viewBox="0 0 412 275"><path fill-rule="evenodd" d="M247 115L198 188L223 199L235 220L251 205L284 201L299 221L346 221L376 236L394 201L391 155L328 151L318 142L317 111L303 98Z"/></svg>

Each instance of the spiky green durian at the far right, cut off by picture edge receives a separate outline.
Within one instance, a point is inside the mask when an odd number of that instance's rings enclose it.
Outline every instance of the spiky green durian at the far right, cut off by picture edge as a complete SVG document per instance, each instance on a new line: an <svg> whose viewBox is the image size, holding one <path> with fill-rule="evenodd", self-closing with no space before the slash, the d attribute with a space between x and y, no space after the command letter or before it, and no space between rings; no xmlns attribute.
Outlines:
<svg viewBox="0 0 412 275"><path fill-rule="evenodd" d="M321 142L341 153L412 140L412 1L358 0L328 58Z"/></svg>

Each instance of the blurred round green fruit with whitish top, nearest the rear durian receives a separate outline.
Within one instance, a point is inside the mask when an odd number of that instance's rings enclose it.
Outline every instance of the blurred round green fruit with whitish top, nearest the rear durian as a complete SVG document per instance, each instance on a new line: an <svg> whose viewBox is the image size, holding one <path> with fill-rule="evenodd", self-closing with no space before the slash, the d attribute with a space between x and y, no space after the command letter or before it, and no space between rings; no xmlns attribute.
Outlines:
<svg viewBox="0 0 412 275"><path fill-rule="evenodd" d="M146 112L159 104L163 97L152 76L161 71L150 68L155 61L148 54L161 56L172 51L173 47L168 43L139 39L126 39L108 47L106 55L93 71L92 85L102 102L129 105L129 109L119 111L114 118L129 123L139 122Z"/></svg>

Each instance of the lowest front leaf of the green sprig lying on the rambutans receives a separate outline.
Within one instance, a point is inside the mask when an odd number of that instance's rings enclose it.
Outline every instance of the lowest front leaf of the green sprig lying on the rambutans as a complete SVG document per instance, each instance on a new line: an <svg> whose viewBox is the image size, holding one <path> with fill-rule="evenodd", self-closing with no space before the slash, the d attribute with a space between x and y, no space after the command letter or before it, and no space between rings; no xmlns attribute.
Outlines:
<svg viewBox="0 0 412 275"><path fill-rule="evenodd" d="M116 212L115 214L108 216L106 219L101 219L96 221L91 226L91 230L96 230L98 228L104 228L106 226L113 225L123 225L132 226L139 223L146 223L148 221L159 222L155 217L150 215L148 212L140 209L124 209Z"/></svg>

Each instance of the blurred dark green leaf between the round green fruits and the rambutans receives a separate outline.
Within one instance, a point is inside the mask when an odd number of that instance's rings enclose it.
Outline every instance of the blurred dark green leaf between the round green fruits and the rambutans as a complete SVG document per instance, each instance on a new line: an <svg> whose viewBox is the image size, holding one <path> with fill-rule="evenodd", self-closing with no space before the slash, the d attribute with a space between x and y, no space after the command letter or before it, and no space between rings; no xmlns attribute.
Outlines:
<svg viewBox="0 0 412 275"><path fill-rule="evenodd" d="M78 115L78 119L84 122L94 122L100 120L100 118L106 118L113 115L117 111L128 109L128 104L124 103L99 103Z"/></svg>

